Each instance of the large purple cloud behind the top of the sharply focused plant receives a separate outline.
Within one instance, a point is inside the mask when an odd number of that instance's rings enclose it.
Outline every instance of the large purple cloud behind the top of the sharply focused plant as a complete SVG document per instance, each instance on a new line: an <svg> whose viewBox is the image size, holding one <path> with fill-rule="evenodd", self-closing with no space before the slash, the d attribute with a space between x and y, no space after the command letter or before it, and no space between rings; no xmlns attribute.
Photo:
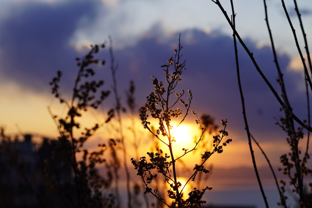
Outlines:
<svg viewBox="0 0 312 208"><path fill-rule="evenodd" d="M216 120L228 119L232 133L241 136L237 139L246 139L232 37L220 33L207 35L198 30L181 31L181 34L184 46L183 58L186 59L187 70L183 72L183 81L181 85L178 85L178 90L191 89L194 96L192 109L200 115L212 114ZM178 35L176 33L170 39L161 42L157 41L156 37L145 38L135 46L116 51L122 71L119 72L122 74L121 79L135 80L139 104L143 104L145 96L153 90L151 75L155 75L159 80L162 79L163 71L159 66L165 64L166 60L173 56L172 46L177 46ZM275 81L277 72L271 48L258 49L250 40L246 40L246 44L253 51L263 73L279 92ZM300 113L301 108L297 105L302 101L304 93L297 92L295 86L302 80L302 77L295 72L286 73L285 69L290 61L288 56L280 55L278 59L282 70L285 71L287 89L290 94L295 95L290 96L294 109ZM239 62L251 131L254 136L263 141L274 140L281 135L284 137L280 129L274 126L274 117L278 118L282 115L279 113L280 105L241 46L239 46ZM127 70L133 67L132 64L135 70ZM298 102L299 98L300 102Z"/></svg>

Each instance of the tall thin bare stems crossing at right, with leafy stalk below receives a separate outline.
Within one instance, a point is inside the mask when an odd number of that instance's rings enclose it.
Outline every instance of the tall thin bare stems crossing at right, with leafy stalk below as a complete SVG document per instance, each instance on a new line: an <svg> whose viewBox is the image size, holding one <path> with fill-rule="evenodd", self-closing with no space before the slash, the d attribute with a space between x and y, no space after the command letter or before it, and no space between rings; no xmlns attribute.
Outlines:
<svg viewBox="0 0 312 208"><path fill-rule="evenodd" d="M266 196L265 196L265 193L264 193L262 185L261 185L259 174L257 172L256 161L255 161L255 157L253 155L253 150L252 150L252 145L251 145L251 137L252 136L251 136L251 133L249 132L248 122L246 119L245 104L244 104L244 98L243 98L242 88L241 88L241 84L240 84L240 76L239 76L239 65L238 65L238 55L237 55L238 53L237 53L237 46L236 46L236 38L241 43L241 45L245 49L246 53L248 54L248 56L252 60L253 64L256 67L256 70L259 72L262 79L266 82L266 84L268 85L268 87L270 88L272 93L274 94L275 98L280 103L280 105L281 105L280 111L285 114L285 116L280 117L279 120L276 119L277 120L276 125L279 125L282 128L282 130L287 133L286 142L289 144L290 152L280 156L280 162L282 163L283 168L279 168L279 170L283 171L283 174L285 176L289 177L289 179L290 179L289 184L290 184L290 186L292 186L292 192L295 193L295 195L297 195L299 198L298 206L300 208L311 207L311 200L312 200L311 196L312 195L311 195L311 193L306 194L306 192L305 192L305 185L307 185L309 183L309 181L304 182L304 177L307 175L311 175L311 173L312 173L312 170L310 168L306 167L308 159L310 158L309 153L308 153L308 149L309 149L310 132L312 132L312 128L310 126L310 98L309 98L309 92L312 91L312 82L311 82L311 78L310 78L310 75L308 72L308 68L310 69L310 72L312 72L312 64L311 64L311 58L310 58L310 52L309 52L307 37L305 34L305 30L303 27L303 22L301 20L301 14L300 14L300 11L298 9L297 2L296 2L296 0L293 1L298 20L300 22L301 33L303 35L303 41L304 41L304 45L305 45L305 52L307 54L308 66L305 63L305 58L304 58L303 53L301 51L300 45L298 43L298 36L296 35L295 27L293 26L293 23L290 19L287 8L285 6L285 2L284 2L284 0L281 0L282 7L283 7L283 10L285 12L285 16L289 22L290 29L291 29L293 36L294 36L294 41L295 41L296 47L298 49L298 54L301 58L302 66L303 66L303 70L304 70L304 74L305 74L304 81L305 81L305 86L306 86L307 121L306 120L300 120L294 114L293 109L292 109L291 104L290 104L290 100L288 99L288 93L287 93L286 88L285 88L285 80L283 79L284 75L283 75L283 72L281 71L281 68L280 68L280 65L279 65L279 62L277 59L275 44L273 41L271 28L269 25L266 0L263 1L264 11L265 11L265 21L266 21L266 26L267 26L267 29L269 32L274 62L275 62L277 75L278 75L278 78L276 78L276 81L280 85L281 95L278 95L278 93L276 92L274 87L268 81L268 79L266 78L266 76L262 72L261 68L259 67L257 61L255 60L253 53L249 50L249 48L246 46L244 41L241 39L238 31L236 31L236 27L235 27L235 16L236 16L236 14L234 12L233 1L231 0L231 6L232 6L232 17L231 18L228 16L227 12L224 10L224 8L223 8L223 6L219 0L212 0L212 2L214 2L218 5L220 10L224 14L227 22L229 23L229 25L231 26L231 28L233 30L235 57L236 57L236 68L237 68L237 75L238 75L237 77L238 77L238 84L239 84L240 93L241 93L243 115L244 115L245 126L246 126L245 128L246 128L247 135L248 135L248 141L249 141L249 145L250 145L250 151L251 151L251 156L253 159L255 172L257 175L257 179L259 182L259 186L260 186L262 195L263 195L263 199L266 203L266 207L269 207L269 205L266 201ZM305 145L305 151L302 155L303 151L301 151L299 143L300 143L300 139L304 138L304 129L307 129L308 131L307 131L307 142ZM256 142L256 140L254 138L253 138L253 140ZM256 144L260 147L259 143L256 142ZM261 151L263 152L262 149L261 149ZM265 157L266 157L266 155L265 155ZM266 160L268 161L268 163L271 167L271 164L270 164L267 157L266 157ZM272 173L275 177L275 173L274 173L272 168L271 168L271 170L272 170ZM275 177L275 181L277 184L276 177ZM287 207L286 206L287 196L285 196L286 182L281 180L280 183L281 183L281 187L278 187L278 184L277 184L277 188L278 188L278 191L280 194L280 202L278 203L278 205L284 206L286 208ZM312 183L311 182L309 183L309 186L310 186L311 192L312 192Z"/></svg>

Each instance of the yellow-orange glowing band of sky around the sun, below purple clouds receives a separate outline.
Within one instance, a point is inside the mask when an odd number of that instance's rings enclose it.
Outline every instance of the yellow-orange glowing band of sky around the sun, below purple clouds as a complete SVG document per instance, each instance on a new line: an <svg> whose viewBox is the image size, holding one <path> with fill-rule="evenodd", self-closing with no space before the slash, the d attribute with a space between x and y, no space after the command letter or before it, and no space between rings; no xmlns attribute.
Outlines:
<svg viewBox="0 0 312 208"><path fill-rule="evenodd" d="M6 133L10 136L19 134L20 131L24 134L33 133L38 136L47 136L49 138L56 138L59 134L57 127L53 122L51 115L49 115L47 106L51 106L51 110L54 114L64 116L66 114L66 107L59 103L52 95L35 93L27 89L22 89L16 83L2 82L0 85L6 90L2 90L0 95L6 99L2 100L2 108L0 110L1 119L0 125L6 127ZM14 95L14 96L12 96ZM10 109L10 110L8 110ZM11 110L12 109L12 110ZM81 119L77 119L81 123L81 128L76 131L75 137L79 137L79 131L84 127L93 127L95 123L102 123L105 121L107 113L105 109L103 111L90 110L82 116ZM183 148L191 150L194 146L194 138L199 139L201 134L200 128L196 123L192 122L192 116L188 117L189 120L185 120L177 130L173 129L173 137L176 142L173 142L173 153L175 158L184 154ZM135 124L134 124L135 123ZM158 128L157 121L152 121L152 125ZM139 156L146 156L146 152L155 152L156 146L151 139L154 137L147 129L144 129L141 125L139 116L137 116L132 122L128 117L123 117L124 135L126 145L128 149L129 158L135 157L133 146L133 133L129 132L129 126L135 129L137 134L137 141L139 141ZM177 126L177 123L172 123L173 126ZM18 126L18 128L16 127ZM219 167L238 167L238 166L252 166L251 156L248 147L248 142L239 139L239 135L233 135L230 133L229 138L233 139L233 142L224 147L222 154L213 155L207 162ZM244 133L245 134L245 133ZM115 132L114 123L104 124L104 127L99 128L94 137L90 138L86 143L85 148L97 148L98 143L105 143L109 138L118 138L119 135ZM167 138L163 138L164 142L168 143ZM193 167L194 164L201 161L201 154L203 151L211 150L212 136L205 134L205 140L207 139L207 145L205 149L198 148L196 151L188 153L183 157L183 162ZM158 141L159 142L159 141ZM282 145L279 140L272 140L267 142L261 142L261 147L271 156L271 162L273 164L280 164L279 156L280 152L287 152L289 147L287 144ZM169 153L168 147L159 142L160 148L164 153ZM259 166L266 166L266 161L263 160L263 155L256 147L253 146L256 153L257 164ZM278 147L279 152L276 147ZM129 162L130 163L130 162Z"/></svg>

